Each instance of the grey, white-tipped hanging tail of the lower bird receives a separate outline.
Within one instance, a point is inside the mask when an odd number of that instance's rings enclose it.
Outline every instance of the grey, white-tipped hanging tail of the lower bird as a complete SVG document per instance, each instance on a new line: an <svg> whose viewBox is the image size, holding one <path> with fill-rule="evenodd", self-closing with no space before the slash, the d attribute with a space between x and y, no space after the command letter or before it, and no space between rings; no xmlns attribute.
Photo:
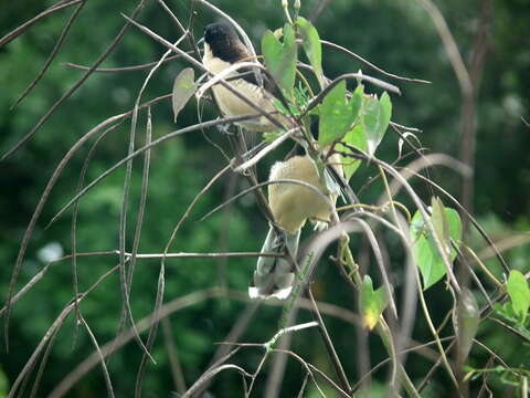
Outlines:
<svg viewBox="0 0 530 398"><path fill-rule="evenodd" d="M286 249L293 256L298 251L300 230L292 234L273 227L268 230L262 253L285 253ZM248 287L251 298L287 298L293 290L295 272L288 260L276 256L261 256L257 259L254 281Z"/></svg>

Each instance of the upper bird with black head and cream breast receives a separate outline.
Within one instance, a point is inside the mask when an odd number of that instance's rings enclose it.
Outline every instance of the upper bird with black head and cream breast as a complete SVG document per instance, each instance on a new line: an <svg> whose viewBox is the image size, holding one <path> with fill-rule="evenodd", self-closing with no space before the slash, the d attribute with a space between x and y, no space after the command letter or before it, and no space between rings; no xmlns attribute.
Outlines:
<svg viewBox="0 0 530 398"><path fill-rule="evenodd" d="M202 64L209 72L218 74L234 63L243 61L255 60L253 60L248 49L240 40L232 25L225 22L216 22L205 28ZM234 78L234 76L237 77ZM278 88L266 75L263 75L264 84L261 86L253 69L242 67L229 74L225 81L264 112L269 113L282 125L287 124L287 126L289 126L289 119L282 115L274 106L274 98L278 96ZM252 108L252 106L223 85L215 84L212 91L221 112L225 116L257 114L256 109ZM242 127L255 132L273 132L278 129L278 126L263 115L239 124Z"/></svg>

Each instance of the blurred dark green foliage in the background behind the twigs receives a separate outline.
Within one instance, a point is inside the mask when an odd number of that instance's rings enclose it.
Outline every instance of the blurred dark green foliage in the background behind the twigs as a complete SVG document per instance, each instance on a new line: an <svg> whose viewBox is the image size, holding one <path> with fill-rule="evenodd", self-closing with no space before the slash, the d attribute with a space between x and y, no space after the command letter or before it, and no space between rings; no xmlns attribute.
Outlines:
<svg viewBox="0 0 530 398"><path fill-rule="evenodd" d="M52 4L52 1L45 1L45 3ZM320 1L303 1L300 14L306 18L314 17L319 3ZM466 62L469 60L473 36L477 29L479 3L478 0L465 2L449 0L438 4L447 18ZM190 11L188 1L168 2L168 4L177 15L184 20L188 18ZM275 30L284 23L279 1L266 0L241 7L241 1L225 0L219 6L243 25L254 43L259 42L265 29ZM41 12L43 7L42 1L1 2L0 35ZM15 109L10 109L10 106L39 73L73 8L44 19L9 45L0 49L1 153L8 150L25 135L53 102L80 78L83 72L67 69L63 63L89 65L94 62L124 23L119 12L130 13L134 7L134 2L88 1L51 69ZM199 38L202 27L215 20L216 17L202 8L197 12L195 36ZM529 19L528 1L495 2L490 49L478 93L475 205L481 224L494 239L502 239L513 231L530 229L530 201L528 200L530 132L520 119L520 116L529 118L530 106L528 96ZM170 41L178 38L178 30L157 2L147 2L140 21ZM393 98L393 119L400 124L422 128L424 133L420 139L432 151L458 156L460 139L458 85L432 22L418 3L391 0L336 0L324 9L316 27L321 39L341 44L391 73L432 81L430 85L398 82L403 95ZM151 62L157 60L163 51L161 45L138 30L129 29L121 45L113 52L104 66L116 67ZM152 78L144 100L170 93L174 76L186 66L179 62L163 65ZM326 74L331 77L344 72L357 72L362 67L364 73L384 78L362 64L327 48L322 50L322 66ZM146 75L146 71L92 75L20 151L0 164L2 301L7 297L9 279L24 229L55 166L83 134L105 118L130 109ZM204 119L214 115L214 109L206 105ZM195 123L197 107L190 103L179 115L177 124L173 124L170 101L165 101L152 107L152 116L153 138L157 138ZM144 143L145 123L145 114L141 114L137 145ZM126 155L129 128L130 123L126 122L103 138L91 161L86 181L93 180ZM229 150L225 138L218 130L212 129L205 134ZM388 136L391 134L389 133ZM378 151L379 156L389 161L394 159L398 153L396 143L396 137L383 142ZM52 191L30 242L18 289L44 266L45 262L39 256L42 248L59 242L64 253L71 252L71 212L49 229L44 230L44 227L74 195L88 147L86 146L72 159ZM200 132L166 142L152 149L147 211L140 242L141 253L163 251L172 229L188 205L223 167L224 161L220 151L209 144ZM267 161L269 165L272 159L266 160L258 169L262 179L267 174ZM352 178L353 189L357 190L364 184L367 176L373 174L373 169L361 166L359 172ZM449 192L458 193L460 178L453 171L436 169L433 177ZM124 170L120 169L81 200L77 251L117 249L123 180ZM140 185L141 160L138 158L135 160L129 203L128 248L132 240ZM231 177L222 178L215 184L199 200L170 251L257 251L267 226L251 197L239 200L225 210L227 213L221 211L203 222L198 222L202 214L222 202L229 195L245 187L245 182L240 179L234 185ZM416 188L427 198L424 185L418 184ZM362 190L361 199L370 202L379 192L374 184ZM306 233L309 232L306 231ZM385 238L392 240L392 237ZM473 242L473 245L478 249L485 245L478 238L474 238ZM528 248L515 248L506 254L511 266L528 272L530 254ZM87 289L117 261L117 256L78 259L80 290ZM502 279L501 270L494 260L487 264L499 279ZM254 261L251 259L167 260L166 301L214 285L225 285L246 292L253 265ZM399 280L403 271L398 263L394 265L396 266L393 270L394 276ZM159 261L140 260L137 264L131 291L132 312L137 320L153 310L158 270ZM356 308L348 286L331 262L328 264L322 261L316 280L315 289L319 300ZM442 284L426 292L426 298L435 314L434 321L438 323L451 307L451 303L433 298L445 294ZM8 384L13 383L46 328L70 302L72 295L71 266L68 261L63 261L53 265L44 280L13 306L10 352L7 354L2 349L0 354L0 364L7 375ZM229 298L209 300L187 307L171 317L174 344L189 384L202 374L212 353L216 349L213 343L225 338L245 305ZM120 308L121 293L117 275L103 283L91 294L89 300L81 305L86 321L100 344L115 336ZM279 307L259 308L242 339L261 343L271 338L276 331L279 314ZM306 318L308 315L303 313L300 321ZM350 355L356 350L356 329L351 325L344 327L341 321L331 317L326 318L326 322L329 322L330 334L341 353L347 373L358 375L356 356ZM428 336L428 332L418 326L413 336L422 339ZM507 335L495 324L481 325L478 337L484 337L484 343L505 359L520 358L519 341ZM317 338L316 331L303 332L300 337L295 339L293 349L304 353L307 360L332 373L326 352L320 344L314 343ZM377 337L371 337L370 343L371 362L374 365L383 359L385 354ZM40 389L41 394L49 392L92 350L93 346L85 331L80 328L78 334L75 335L72 317L68 318L57 335L51 353L50 364L44 371ZM245 350L241 360L250 364L252 368L257 365L258 355L261 355L259 352ZM151 365L148 369L145 396L167 396L170 390L174 390L174 386L161 336L155 346L153 356L157 358L157 365ZM117 396L131 395L140 357L140 348L135 343L130 343L110 359L109 371L114 387L118 391ZM484 352L478 349L475 352L474 348L470 363L473 366L480 367L487 358ZM528 364L529 360L527 352L520 362ZM414 365L411 366L412 376L424 375L430 364L428 360L414 356ZM264 376L268 371L266 368ZM282 396L296 394L303 377L304 369L300 365L289 360ZM380 377L378 383L383 383L384 375ZM445 376L435 378L433 387L430 388L436 392L428 396L445 396L446 381ZM257 380L257 387L259 388L264 383L265 377L261 377ZM497 391L502 388L498 383L495 384L495 380L492 383ZM4 389L3 384L3 378L0 378L0 395ZM226 395L226 391L239 389L240 385L239 377L226 374L212 385L211 391L219 397L232 396ZM471 387L477 388L475 385ZM100 370L95 369L74 387L72 396L94 397L103 395L104 391ZM308 396L318 396L315 392Z"/></svg>

